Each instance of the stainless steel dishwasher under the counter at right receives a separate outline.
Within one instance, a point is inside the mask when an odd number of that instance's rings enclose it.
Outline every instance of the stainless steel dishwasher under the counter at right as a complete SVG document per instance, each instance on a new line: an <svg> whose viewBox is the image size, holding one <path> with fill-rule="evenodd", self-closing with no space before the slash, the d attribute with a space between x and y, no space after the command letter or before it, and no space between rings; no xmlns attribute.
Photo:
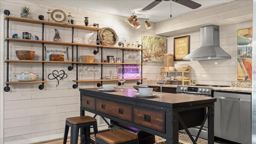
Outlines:
<svg viewBox="0 0 256 144"><path fill-rule="evenodd" d="M214 91L214 136L251 144L251 93Z"/></svg>

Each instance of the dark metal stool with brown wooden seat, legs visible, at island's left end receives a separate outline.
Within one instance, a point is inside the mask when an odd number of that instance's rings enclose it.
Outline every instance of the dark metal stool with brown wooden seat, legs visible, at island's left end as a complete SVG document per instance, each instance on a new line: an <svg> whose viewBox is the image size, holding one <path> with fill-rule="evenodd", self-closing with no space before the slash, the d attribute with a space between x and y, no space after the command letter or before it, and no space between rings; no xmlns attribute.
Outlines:
<svg viewBox="0 0 256 144"><path fill-rule="evenodd" d="M85 142L86 144L90 144L90 126L93 126L94 135L97 134L98 128L97 128L97 121L95 118L92 118L90 116L77 116L77 117L66 118L63 144L66 144L67 142L69 127L71 127L70 144L78 143L79 128L84 129Z"/></svg>

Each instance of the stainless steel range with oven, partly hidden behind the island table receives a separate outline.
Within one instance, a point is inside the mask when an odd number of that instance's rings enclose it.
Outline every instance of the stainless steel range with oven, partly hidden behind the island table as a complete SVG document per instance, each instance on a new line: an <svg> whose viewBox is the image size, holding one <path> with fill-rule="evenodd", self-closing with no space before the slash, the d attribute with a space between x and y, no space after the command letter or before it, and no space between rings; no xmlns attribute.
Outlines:
<svg viewBox="0 0 256 144"><path fill-rule="evenodd" d="M212 87L228 87L228 86L220 86L220 85L193 85L193 86L177 86L176 93L177 94L187 94L187 95L195 95L195 96L209 96L213 97ZM204 110L205 114L208 111L207 108ZM193 128L188 128L190 134L192 136L197 136L200 126L196 126ZM180 132L186 133L185 130L180 130ZM199 135L200 138L208 139L208 120L204 123L202 131Z"/></svg>

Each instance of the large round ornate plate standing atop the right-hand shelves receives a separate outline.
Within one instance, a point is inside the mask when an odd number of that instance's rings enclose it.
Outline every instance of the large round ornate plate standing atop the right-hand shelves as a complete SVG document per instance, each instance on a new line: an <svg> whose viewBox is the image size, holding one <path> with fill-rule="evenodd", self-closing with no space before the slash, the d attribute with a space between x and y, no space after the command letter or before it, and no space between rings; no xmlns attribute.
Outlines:
<svg viewBox="0 0 256 144"><path fill-rule="evenodd" d="M100 40L104 46L114 46L118 41L118 36L112 28L105 27L99 32Z"/></svg>

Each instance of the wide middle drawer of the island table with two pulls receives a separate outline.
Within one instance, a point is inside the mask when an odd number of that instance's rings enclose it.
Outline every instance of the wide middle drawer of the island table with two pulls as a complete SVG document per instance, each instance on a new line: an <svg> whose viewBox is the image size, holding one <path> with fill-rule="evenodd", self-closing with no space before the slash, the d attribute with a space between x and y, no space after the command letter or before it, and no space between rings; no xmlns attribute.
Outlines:
<svg viewBox="0 0 256 144"><path fill-rule="evenodd" d="M96 111L132 122L132 106L128 104L96 99Z"/></svg>

